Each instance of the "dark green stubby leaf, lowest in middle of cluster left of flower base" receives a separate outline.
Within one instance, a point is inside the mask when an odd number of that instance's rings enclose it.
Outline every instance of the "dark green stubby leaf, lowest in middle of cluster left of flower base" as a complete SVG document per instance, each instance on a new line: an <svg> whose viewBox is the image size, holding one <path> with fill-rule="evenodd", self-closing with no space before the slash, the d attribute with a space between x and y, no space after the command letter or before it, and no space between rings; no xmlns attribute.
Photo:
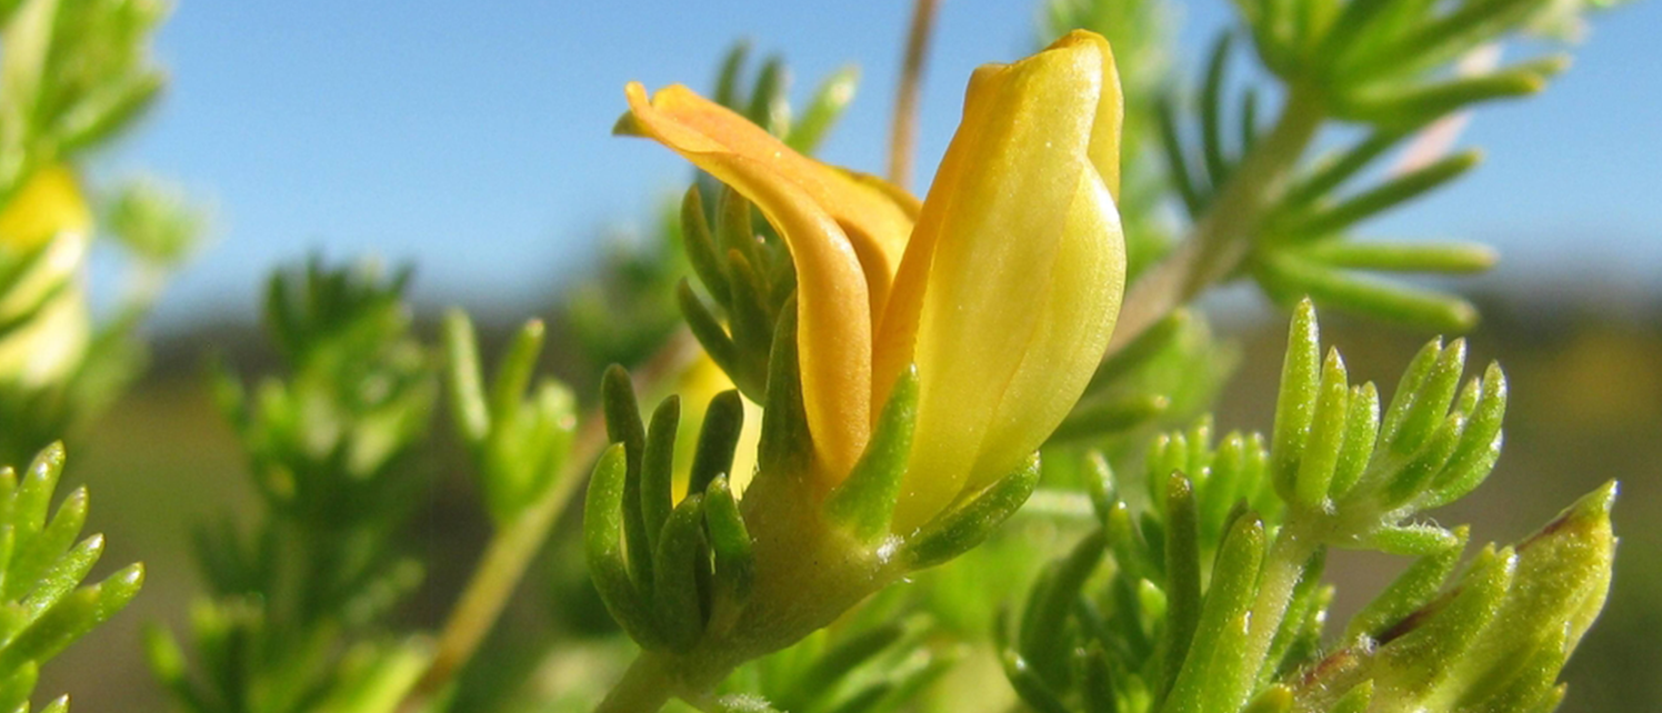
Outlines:
<svg viewBox="0 0 1662 713"><path fill-rule="evenodd" d="M686 652L705 633L700 573L710 565L705 497L688 495L663 524L653 573L653 612L670 650Z"/></svg>

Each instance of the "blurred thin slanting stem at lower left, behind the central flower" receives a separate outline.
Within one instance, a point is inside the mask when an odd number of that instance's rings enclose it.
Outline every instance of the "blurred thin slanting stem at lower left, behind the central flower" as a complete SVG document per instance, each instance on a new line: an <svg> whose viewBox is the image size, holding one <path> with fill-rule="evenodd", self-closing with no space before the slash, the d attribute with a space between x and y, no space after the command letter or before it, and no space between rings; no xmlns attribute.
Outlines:
<svg viewBox="0 0 1662 713"><path fill-rule="evenodd" d="M681 374L696 354L698 344L691 334L685 327L676 331L637 371L638 384L645 386L643 391L656 391L656 384ZM404 696L404 701L399 705L401 713L424 710L435 695L450 685L450 680L455 678L462 666L467 665L474 652L485 640L485 635L495 627L497 617L502 615L502 608L514 595L514 590L519 588L520 580L525 577L525 568L537 552L542 550L542 543L548 538L548 532L558 522L560 514L565 512L565 505L572 500L578 487L588 482L588 469L607 445L607 429L598 406L583 414L580 422L582 427L572 440L570 455L555 477L555 484L548 487L540 500L527 507L519 519L497 530L485 545L485 553L480 558L479 568L474 570L474 578L462 590L462 597L455 602L455 608L450 610L450 617L439 633L432 663L427 665L420 680Z"/></svg>

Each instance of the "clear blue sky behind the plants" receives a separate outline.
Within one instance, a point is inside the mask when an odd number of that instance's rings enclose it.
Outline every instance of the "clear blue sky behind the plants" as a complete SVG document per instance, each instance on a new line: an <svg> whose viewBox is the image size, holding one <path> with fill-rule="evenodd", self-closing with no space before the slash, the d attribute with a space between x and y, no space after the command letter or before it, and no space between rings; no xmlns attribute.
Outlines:
<svg viewBox="0 0 1662 713"><path fill-rule="evenodd" d="M312 251L412 259L424 301L524 306L648 226L685 181L668 151L608 136L625 81L708 86L738 37L784 50L798 95L859 65L824 156L878 170L907 5L184 0L158 42L170 91L98 173L158 175L213 211L213 243L165 297L170 324L253 314L266 271ZM1182 12L1193 55L1223 0ZM1544 96L1476 116L1463 136L1487 153L1476 175L1368 233L1489 241L1501 279L1567 266L1662 288L1657 28L1657 2L1596 18ZM942 3L914 189L969 71L1032 42L1032 3Z"/></svg>

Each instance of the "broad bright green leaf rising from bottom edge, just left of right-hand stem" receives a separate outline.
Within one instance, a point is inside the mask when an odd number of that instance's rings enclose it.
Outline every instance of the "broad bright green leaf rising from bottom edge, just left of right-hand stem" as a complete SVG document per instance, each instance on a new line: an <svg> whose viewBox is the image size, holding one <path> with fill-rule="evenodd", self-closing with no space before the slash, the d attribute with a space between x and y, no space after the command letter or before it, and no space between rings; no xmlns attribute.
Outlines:
<svg viewBox="0 0 1662 713"><path fill-rule="evenodd" d="M1238 710L1246 701L1258 673L1256 661L1246 661L1243 653L1246 617L1258 593L1265 542L1256 515L1237 520L1223 538L1188 658L1160 711L1210 713Z"/></svg>

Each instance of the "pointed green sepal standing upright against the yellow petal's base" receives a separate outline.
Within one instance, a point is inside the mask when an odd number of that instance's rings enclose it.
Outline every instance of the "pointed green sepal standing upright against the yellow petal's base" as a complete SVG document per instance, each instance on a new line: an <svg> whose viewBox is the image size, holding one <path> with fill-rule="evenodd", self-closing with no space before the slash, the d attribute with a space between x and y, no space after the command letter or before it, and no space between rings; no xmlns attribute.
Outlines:
<svg viewBox="0 0 1662 713"><path fill-rule="evenodd" d="M906 462L912 452L916 422L917 367L907 366L889 391L889 402L878 416L866 452L849 470L848 479L826 499L826 519L868 543L889 534L901 480L906 477Z"/></svg>

